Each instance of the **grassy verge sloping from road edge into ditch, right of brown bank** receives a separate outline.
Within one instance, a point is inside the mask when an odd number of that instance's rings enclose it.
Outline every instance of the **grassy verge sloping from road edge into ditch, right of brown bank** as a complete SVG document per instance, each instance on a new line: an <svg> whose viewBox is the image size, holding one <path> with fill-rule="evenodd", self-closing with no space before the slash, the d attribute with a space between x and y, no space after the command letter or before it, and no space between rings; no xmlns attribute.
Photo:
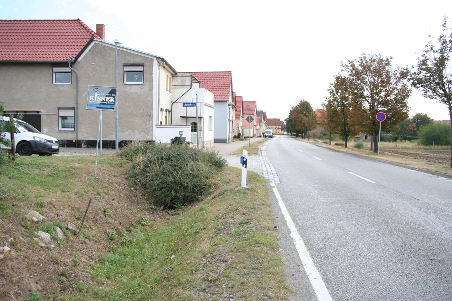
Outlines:
<svg viewBox="0 0 452 301"><path fill-rule="evenodd" d="M284 300L285 283L265 180L225 167L207 200L165 223L149 223L109 246L92 285L65 300ZM264 296L264 297L263 297Z"/></svg>

